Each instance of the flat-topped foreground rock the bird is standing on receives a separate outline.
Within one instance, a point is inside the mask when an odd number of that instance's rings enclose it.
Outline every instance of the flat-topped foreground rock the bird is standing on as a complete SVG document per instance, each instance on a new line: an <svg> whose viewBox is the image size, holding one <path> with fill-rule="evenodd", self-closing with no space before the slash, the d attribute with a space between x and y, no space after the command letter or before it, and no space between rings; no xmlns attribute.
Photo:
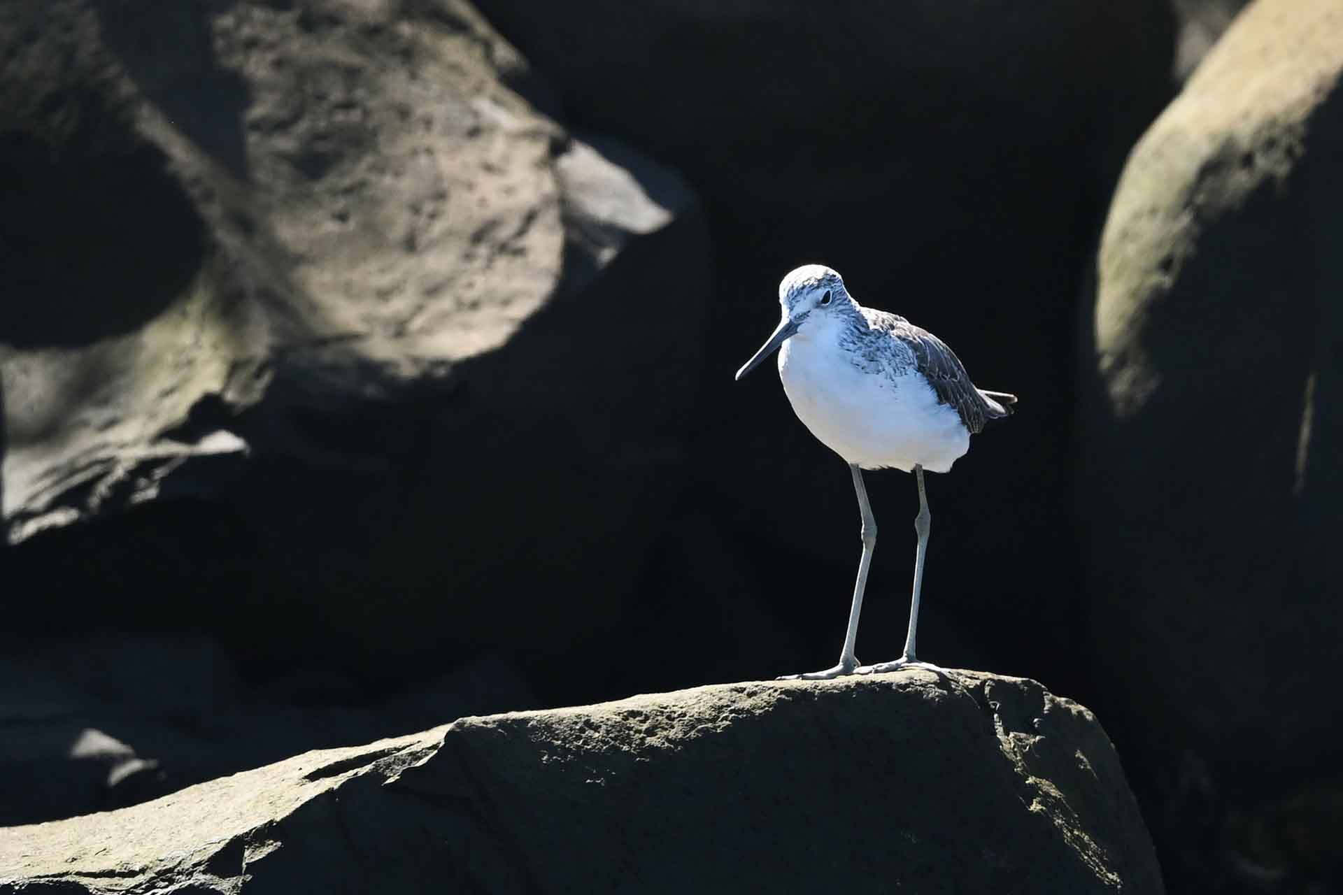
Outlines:
<svg viewBox="0 0 1343 895"><path fill-rule="evenodd" d="M1162 891L1089 711L925 671L463 718L0 829L0 868L5 895Z"/></svg>

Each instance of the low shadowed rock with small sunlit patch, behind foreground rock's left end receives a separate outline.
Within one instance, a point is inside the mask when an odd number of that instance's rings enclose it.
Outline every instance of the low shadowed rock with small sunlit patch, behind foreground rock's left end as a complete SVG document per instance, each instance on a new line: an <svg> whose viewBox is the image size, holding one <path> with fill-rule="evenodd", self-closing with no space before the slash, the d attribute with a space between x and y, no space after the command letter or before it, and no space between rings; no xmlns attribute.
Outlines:
<svg viewBox="0 0 1343 895"><path fill-rule="evenodd" d="M207 632L121 625L0 636L0 827L111 810L309 749L536 702L506 662L449 657L376 690L338 663L258 683Z"/></svg>

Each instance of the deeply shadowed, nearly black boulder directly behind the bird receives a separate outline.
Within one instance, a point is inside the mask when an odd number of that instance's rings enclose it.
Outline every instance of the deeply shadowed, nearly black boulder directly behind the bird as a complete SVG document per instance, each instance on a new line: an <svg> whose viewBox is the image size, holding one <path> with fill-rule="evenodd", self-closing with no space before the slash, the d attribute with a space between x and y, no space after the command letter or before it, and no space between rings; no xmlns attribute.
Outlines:
<svg viewBox="0 0 1343 895"><path fill-rule="evenodd" d="M774 629L796 632L770 660L790 671L799 653L838 651L858 514L843 466L772 372L731 377L774 326L783 274L823 262L864 303L947 339L980 385L1022 399L929 483L929 655L1076 667L1080 569L1060 535L1074 376L1061 346L1113 178L1170 95L1166 0L479 5L565 117L676 165L705 197L714 378L693 441L702 496L681 513L686 526L708 515L709 539L745 558L719 580L744 577L768 594ZM917 501L904 476L870 488L882 535L860 656L876 660L902 643ZM818 605L830 605L822 624Z"/></svg>

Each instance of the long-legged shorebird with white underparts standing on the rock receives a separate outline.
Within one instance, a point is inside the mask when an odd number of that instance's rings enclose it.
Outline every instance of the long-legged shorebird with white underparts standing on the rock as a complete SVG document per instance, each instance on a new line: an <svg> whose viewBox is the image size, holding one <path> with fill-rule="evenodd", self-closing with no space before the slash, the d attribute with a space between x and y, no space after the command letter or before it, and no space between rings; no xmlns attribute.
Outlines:
<svg viewBox="0 0 1343 895"><path fill-rule="evenodd" d="M932 514L924 472L950 472L970 450L970 436L988 420L1011 416L1017 396L975 388L960 358L940 338L904 317L860 305L843 278L823 264L803 264L779 283L780 319L774 333L737 370L740 381L774 352L779 378L803 425L847 464L862 517L862 556L838 664L780 680L825 680L921 667L917 659L919 597ZM877 545L864 470L913 472L919 484L913 596L900 659L864 666L854 656L858 615Z"/></svg>

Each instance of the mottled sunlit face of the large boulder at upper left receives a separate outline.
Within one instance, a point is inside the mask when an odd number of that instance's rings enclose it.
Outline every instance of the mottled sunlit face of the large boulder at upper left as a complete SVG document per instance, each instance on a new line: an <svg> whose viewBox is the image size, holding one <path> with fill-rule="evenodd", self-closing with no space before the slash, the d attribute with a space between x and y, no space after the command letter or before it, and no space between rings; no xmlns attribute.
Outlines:
<svg viewBox="0 0 1343 895"><path fill-rule="evenodd" d="M277 366L396 390L500 348L565 272L564 160L614 168L504 85L521 59L463 4L8 15L11 541L97 513L79 483L188 452L164 432ZM70 122L26 95L52 82ZM620 187L616 228L670 220Z"/></svg>

